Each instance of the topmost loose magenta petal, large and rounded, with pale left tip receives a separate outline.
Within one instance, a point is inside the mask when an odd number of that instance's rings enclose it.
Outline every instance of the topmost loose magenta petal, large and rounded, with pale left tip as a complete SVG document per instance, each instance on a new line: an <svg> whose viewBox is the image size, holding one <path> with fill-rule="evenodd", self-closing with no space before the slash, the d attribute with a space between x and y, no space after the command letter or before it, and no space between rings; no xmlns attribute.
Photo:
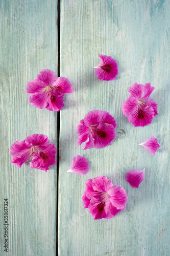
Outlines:
<svg viewBox="0 0 170 256"><path fill-rule="evenodd" d="M102 60L98 66L94 67L95 74L100 80L110 81L116 79L119 73L116 61L107 55L99 56Z"/></svg>

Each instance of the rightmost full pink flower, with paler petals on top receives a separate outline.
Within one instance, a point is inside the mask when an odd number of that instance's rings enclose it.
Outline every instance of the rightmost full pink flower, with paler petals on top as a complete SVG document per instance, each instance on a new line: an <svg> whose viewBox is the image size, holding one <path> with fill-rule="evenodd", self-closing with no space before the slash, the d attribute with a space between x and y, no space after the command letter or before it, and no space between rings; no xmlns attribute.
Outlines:
<svg viewBox="0 0 170 256"><path fill-rule="evenodd" d="M144 127L152 123L152 119L158 115L157 103L153 99L149 99L154 89L150 82L145 84L135 82L129 88L130 95L123 103L122 111L133 126Z"/></svg>

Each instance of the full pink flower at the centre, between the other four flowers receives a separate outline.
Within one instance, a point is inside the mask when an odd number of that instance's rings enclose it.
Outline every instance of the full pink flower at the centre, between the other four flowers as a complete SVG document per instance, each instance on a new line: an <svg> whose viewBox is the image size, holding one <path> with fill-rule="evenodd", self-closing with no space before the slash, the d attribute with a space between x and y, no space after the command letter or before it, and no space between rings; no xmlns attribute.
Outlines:
<svg viewBox="0 0 170 256"><path fill-rule="evenodd" d="M103 148L108 146L116 137L114 133L116 126L114 117L108 112L90 111L77 127L79 134L78 145L86 141L84 150L92 147Z"/></svg>

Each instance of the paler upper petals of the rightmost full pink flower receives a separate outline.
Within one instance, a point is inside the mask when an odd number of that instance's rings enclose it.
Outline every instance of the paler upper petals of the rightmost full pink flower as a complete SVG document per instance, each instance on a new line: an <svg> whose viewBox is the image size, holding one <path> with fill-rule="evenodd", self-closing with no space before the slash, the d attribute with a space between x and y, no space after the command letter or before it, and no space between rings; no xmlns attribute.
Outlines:
<svg viewBox="0 0 170 256"><path fill-rule="evenodd" d="M154 87L151 86L151 83L145 84L138 84L135 82L132 86L128 89L130 93L130 97L135 97L139 100L148 100L151 93L154 91Z"/></svg>

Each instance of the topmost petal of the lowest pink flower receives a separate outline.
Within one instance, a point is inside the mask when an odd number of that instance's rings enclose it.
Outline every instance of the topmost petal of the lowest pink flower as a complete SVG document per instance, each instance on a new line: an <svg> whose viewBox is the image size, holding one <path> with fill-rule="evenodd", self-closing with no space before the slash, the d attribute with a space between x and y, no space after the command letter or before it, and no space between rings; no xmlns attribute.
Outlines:
<svg viewBox="0 0 170 256"><path fill-rule="evenodd" d="M109 190L113 186L111 180L109 180L105 176L99 176L92 180L92 188L93 190L104 193Z"/></svg>

